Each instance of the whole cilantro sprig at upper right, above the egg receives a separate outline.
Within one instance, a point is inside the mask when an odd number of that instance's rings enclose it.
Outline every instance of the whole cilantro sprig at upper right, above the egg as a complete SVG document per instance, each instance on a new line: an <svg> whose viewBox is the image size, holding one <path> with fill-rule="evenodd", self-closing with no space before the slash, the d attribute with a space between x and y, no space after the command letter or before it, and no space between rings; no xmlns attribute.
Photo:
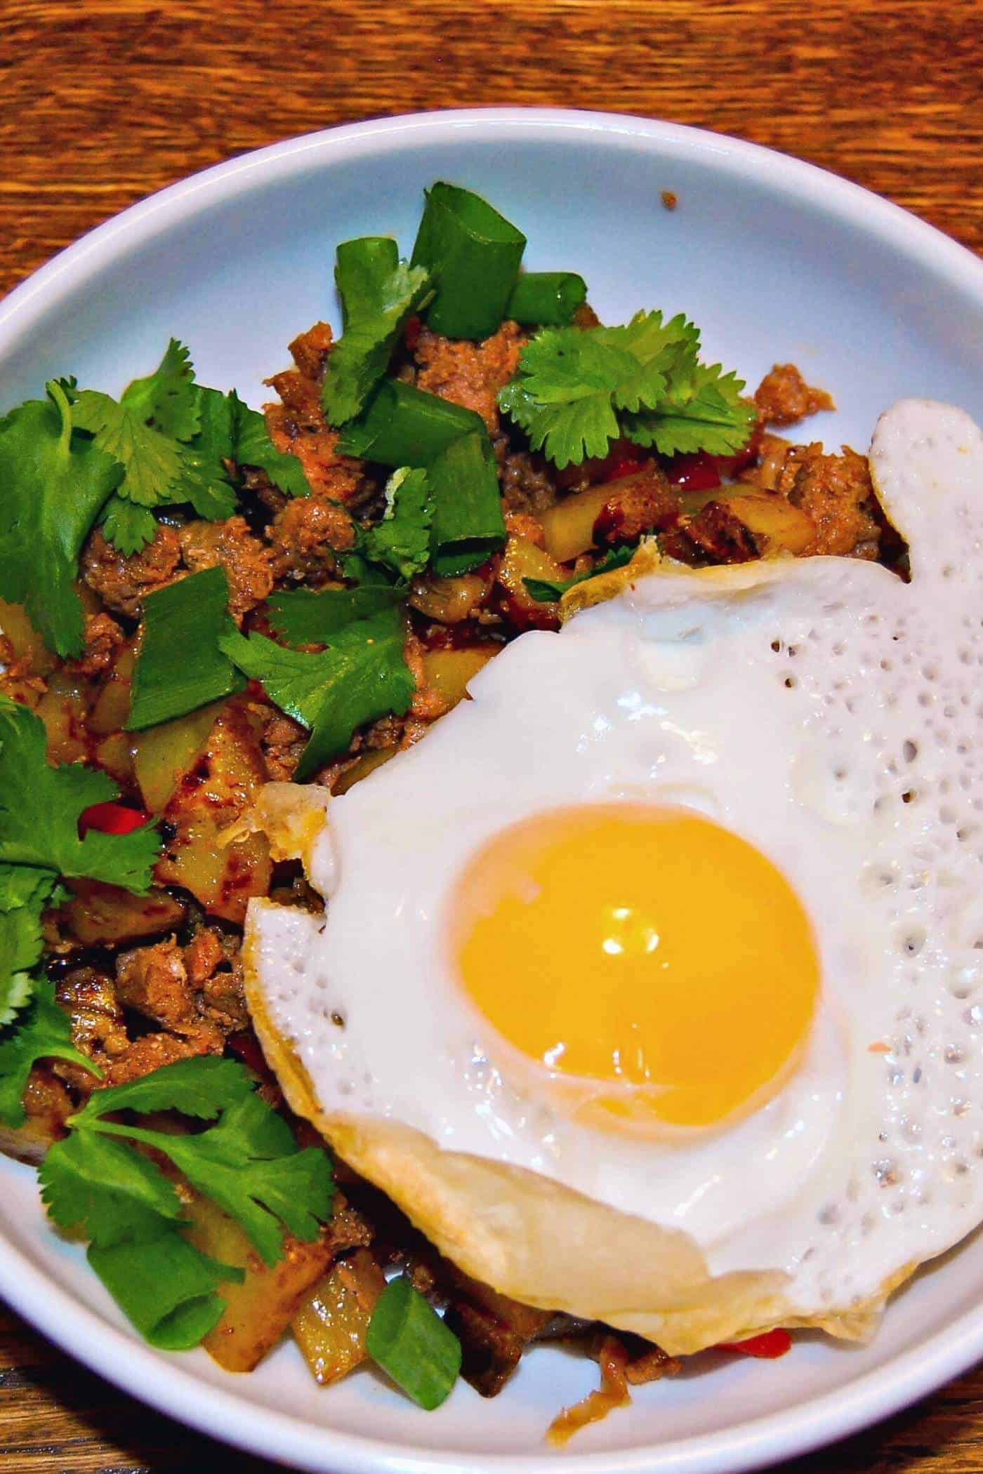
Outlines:
<svg viewBox="0 0 983 1474"><path fill-rule="evenodd" d="M498 404L556 466L604 457L619 436L672 455L738 450L753 410L734 374L699 360L682 314L637 312L620 327L551 327L522 351ZM694 444L696 441L696 444Z"/></svg>

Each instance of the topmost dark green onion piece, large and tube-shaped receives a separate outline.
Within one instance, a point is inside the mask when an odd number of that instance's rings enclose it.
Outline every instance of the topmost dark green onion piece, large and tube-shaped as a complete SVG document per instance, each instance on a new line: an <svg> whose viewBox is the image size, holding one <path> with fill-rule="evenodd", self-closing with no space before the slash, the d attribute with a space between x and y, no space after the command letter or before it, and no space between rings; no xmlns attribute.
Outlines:
<svg viewBox="0 0 983 1474"><path fill-rule="evenodd" d="M489 338L501 326L526 237L480 195L455 184L426 192L413 265L436 280L427 326L448 338Z"/></svg>

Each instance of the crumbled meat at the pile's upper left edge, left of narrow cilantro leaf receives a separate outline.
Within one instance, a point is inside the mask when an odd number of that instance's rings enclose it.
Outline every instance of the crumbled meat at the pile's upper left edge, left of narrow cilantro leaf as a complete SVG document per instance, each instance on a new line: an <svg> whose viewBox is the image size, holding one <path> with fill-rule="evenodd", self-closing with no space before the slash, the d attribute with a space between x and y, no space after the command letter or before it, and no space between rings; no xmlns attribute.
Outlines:
<svg viewBox="0 0 983 1474"><path fill-rule="evenodd" d="M265 405L270 439L279 451L293 453L315 495L357 501L364 494L363 464L337 454L337 430L321 410L321 380L332 349L327 323L315 323L290 343L296 368L267 379L281 404Z"/></svg>

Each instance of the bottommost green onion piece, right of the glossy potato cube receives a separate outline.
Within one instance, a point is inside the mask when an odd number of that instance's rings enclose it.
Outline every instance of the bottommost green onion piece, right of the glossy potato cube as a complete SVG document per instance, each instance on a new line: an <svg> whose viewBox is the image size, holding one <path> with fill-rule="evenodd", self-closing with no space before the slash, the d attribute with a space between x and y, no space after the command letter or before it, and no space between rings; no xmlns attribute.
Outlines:
<svg viewBox="0 0 983 1474"><path fill-rule="evenodd" d="M461 1369L461 1343L407 1275L379 1296L365 1350L427 1412L447 1399Z"/></svg>

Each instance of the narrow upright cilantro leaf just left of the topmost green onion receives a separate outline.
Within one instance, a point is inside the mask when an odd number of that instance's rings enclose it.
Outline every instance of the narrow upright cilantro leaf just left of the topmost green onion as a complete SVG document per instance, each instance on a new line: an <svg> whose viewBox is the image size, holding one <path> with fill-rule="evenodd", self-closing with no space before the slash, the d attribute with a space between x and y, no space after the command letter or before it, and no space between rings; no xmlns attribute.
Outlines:
<svg viewBox="0 0 983 1474"><path fill-rule="evenodd" d="M396 262L379 276L374 270L355 273L352 256L368 246L367 240L339 246L335 273L345 312L345 332L335 343L324 376L321 404L329 425L346 425L365 407L368 395L389 367L402 329L430 301L433 290L426 267ZM349 289L349 283L351 287Z"/></svg>

